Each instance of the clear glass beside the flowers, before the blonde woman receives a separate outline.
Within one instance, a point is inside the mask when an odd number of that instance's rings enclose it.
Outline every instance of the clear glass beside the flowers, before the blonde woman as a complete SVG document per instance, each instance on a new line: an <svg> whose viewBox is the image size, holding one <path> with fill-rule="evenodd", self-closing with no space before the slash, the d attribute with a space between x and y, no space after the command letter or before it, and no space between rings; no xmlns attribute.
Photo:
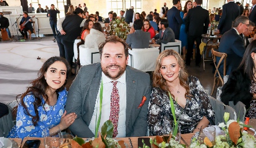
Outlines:
<svg viewBox="0 0 256 148"><path fill-rule="evenodd" d="M215 145L215 127L212 125L202 125L200 128L198 140L200 143L204 143L204 139L207 137L210 142Z"/></svg>

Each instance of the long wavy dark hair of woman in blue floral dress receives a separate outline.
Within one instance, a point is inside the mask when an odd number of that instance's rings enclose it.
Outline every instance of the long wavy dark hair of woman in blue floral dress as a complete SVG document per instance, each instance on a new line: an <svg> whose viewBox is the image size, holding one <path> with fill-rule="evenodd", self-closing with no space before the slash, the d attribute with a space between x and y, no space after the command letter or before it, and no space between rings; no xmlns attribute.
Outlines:
<svg viewBox="0 0 256 148"><path fill-rule="evenodd" d="M23 108L25 109L24 110L25 114L32 117L32 123L34 124L34 126L39 121L39 113L38 113L39 106L45 105L45 103L49 99L49 97L46 94L46 91L49 89L49 86L48 86L48 84L45 80L45 73L47 72L47 69L49 68L49 66L52 65L56 61L63 62L65 64L65 66L67 67L67 73L66 73L67 77L66 77L65 83L63 84L63 86L61 86L60 88L58 88L56 90L56 92L63 91L64 88L65 88L65 84L67 83L68 75L71 72L70 64L68 64L68 61L65 60L65 58L51 57L47 61L45 61L45 63L43 63L41 69L39 69L39 71L38 71L38 78L33 80L30 83L31 86L27 88L27 91L25 91L23 94L19 94L19 95L16 96L16 99L18 99L19 97L21 98L21 102L20 102L21 106L23 106ZM32 116L32 114L30 112L28 112L28 108L25 105L25 102L23 100L23 98L26 95L30 95L30 94L33 94L34 97L35 97L35 101L33 102L33 106L34 106L34 110L35 110L35 116ZM42 104L42 97L45 98L45 103L44 104ZM18 106L15 106L12 110L14 117L16 117L16 115L17 115L17 108L18 108Z"/></svg>

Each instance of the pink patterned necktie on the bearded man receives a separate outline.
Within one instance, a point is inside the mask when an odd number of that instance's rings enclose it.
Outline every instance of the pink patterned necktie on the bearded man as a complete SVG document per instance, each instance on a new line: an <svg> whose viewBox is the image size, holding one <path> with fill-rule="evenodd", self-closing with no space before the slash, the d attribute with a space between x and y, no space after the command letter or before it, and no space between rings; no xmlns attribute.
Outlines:
<svg viewBox="0 0 256 148"><path fill-rule="evenodd" d="M110 115L109 120L112 121L114 125L114 132L113 132L113 138L118 135L118 119L119 119L119 94L118 94L118 88L116 87L117 81L112 81L113 83L113 89L111 92L111 105L110 105Z"/></svg>

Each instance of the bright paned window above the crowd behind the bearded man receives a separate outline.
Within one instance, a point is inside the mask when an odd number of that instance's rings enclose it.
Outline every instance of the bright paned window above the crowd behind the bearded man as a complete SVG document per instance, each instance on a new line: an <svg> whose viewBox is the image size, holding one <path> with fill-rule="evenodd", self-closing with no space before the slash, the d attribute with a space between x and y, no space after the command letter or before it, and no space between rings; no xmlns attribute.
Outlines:
<svg viewBox="0 0 256 148"><path fill-rule="evenodd" d="M107 12L113 11L119 15L120 10L134 7L134 12L141 13L141 0L107 0Z"/></svg>

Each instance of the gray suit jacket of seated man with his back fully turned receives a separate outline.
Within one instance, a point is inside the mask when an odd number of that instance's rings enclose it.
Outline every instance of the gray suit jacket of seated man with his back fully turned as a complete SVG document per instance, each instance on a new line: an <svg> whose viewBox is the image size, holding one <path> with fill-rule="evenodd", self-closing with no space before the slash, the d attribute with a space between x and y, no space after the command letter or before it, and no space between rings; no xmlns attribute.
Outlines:
<svg viewBox="0 0 256 148"><path fill-rule="evenodd" d="M150 33L142 30L136 30L133 34L129 34L126 43L131 49L145 49L149 47Z"/></svg>

